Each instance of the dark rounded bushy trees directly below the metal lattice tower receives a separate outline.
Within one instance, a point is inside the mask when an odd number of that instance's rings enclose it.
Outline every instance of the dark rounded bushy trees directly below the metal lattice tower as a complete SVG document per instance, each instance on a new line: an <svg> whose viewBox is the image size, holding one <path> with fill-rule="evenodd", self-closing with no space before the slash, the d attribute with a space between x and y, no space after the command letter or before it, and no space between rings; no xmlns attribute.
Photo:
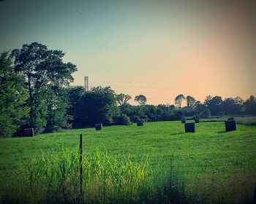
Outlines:
<svg viewBox="0 0 256 204"><path fill-rule="evenodd" d="M85 127L103 123L112 125L114 117L119 111L116 106L116 95L110 87L92 87L89 92L85 92L82 87L69 88L69 100L72 103L68 112L74 118L74 127Z"/></svg>

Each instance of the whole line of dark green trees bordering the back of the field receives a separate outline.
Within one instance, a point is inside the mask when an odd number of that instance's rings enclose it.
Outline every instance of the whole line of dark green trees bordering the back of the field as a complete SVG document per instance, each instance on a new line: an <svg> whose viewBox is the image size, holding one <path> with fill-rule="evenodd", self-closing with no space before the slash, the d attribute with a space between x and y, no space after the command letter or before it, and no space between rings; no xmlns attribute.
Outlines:
<svg viewBox="0 0 256 204"><path fill-rule="evenodd" d="M111 87L71 87L73 63L63 62L64 52L49 50L33 42L0 55L0 136L21 135L26 127L35 133L61 128L104 125L129 125L132 122L181 119L184 116L209 117L225 114L256 114L255 96L207 96L204 103L180 94L175 105L146 105L145 95L117 94ZM186 106L182 106L182 103Z"/></svg>

